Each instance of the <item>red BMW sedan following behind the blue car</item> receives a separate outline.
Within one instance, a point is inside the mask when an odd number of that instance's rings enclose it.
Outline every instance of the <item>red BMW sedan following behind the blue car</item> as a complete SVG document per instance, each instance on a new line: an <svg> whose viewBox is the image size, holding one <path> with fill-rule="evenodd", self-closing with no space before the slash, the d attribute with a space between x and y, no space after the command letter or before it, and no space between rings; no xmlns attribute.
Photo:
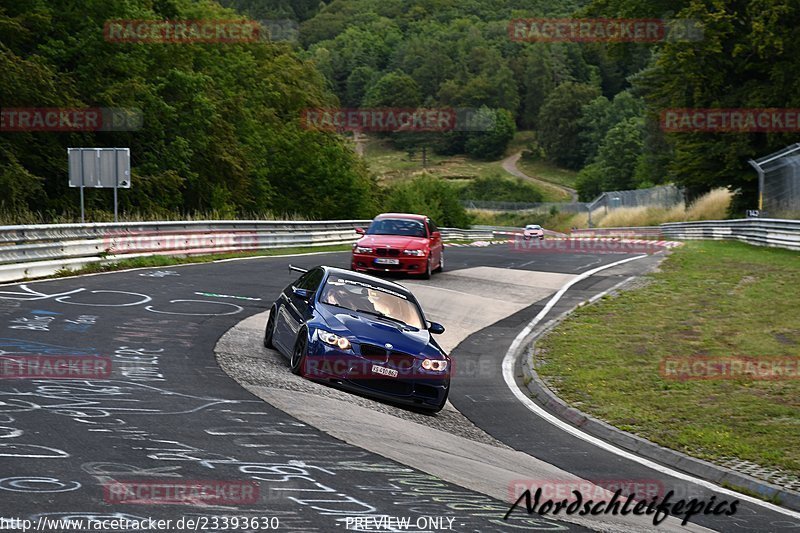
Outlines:
<svg viewBox="0 0 800 533"><path fill-rule="evenodd" d="M351 268L357 272L403 272L430 279L444 268L442 234L425 215L378 215L353 245Z"/></svg>

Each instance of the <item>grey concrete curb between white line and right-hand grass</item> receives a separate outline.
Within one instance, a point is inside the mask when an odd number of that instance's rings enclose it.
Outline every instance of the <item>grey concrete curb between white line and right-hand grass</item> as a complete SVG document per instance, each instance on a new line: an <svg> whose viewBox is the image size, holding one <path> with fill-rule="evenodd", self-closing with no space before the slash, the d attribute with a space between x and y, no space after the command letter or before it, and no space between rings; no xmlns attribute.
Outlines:
<svg viewBox="0 0 800 533"><path fill-rule="evenodd" d="M618 287L619 286L615 287L611 292L615 292ZM593 300L594 299L595 298L593 298ZM536 400L536 402L560 419L569 422L592 436L615 444L620 448L718 485L725 485L727 488L733 490L740 488L745 489L753 494L758 494L765 500L777 501L779 505L787 509L800 511L800 493L762 481L747 474L736 472L730 468L659 446L647 439L618 429L602 420L571 407L550 390L533 368L532 354L535 350L536 341L560 324L567 316L575 311L575 309L578 309L586 303L587 302L583 302L550 320L541 330L533 333L525 342L520 344L520 348L517 350L515 357L517 364L521 364L522 366L525 388L530 392L531 397Z"/></svg>

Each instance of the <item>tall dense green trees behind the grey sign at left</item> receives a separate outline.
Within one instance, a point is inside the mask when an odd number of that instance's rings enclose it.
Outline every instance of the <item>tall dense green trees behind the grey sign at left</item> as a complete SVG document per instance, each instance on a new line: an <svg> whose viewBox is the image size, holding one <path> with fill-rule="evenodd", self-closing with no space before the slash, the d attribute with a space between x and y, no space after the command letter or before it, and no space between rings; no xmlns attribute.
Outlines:
<svg viewBox="0 0 800 533"><path fill-rule="evenodd" d="M369 216L376 187L332 133L301 127L306 107L336 105L309 61L288 44L143 44L104 39L110 19L235 19L214 2L31 0L0 3L0 102L9 108L142 110L136 131L0 134L5 212L75 213L67 147L131 148L121 209L159 217L297 213ZM336 191L332 194L332 191ZM109 191L87 191L108 212Z"/></svg>

